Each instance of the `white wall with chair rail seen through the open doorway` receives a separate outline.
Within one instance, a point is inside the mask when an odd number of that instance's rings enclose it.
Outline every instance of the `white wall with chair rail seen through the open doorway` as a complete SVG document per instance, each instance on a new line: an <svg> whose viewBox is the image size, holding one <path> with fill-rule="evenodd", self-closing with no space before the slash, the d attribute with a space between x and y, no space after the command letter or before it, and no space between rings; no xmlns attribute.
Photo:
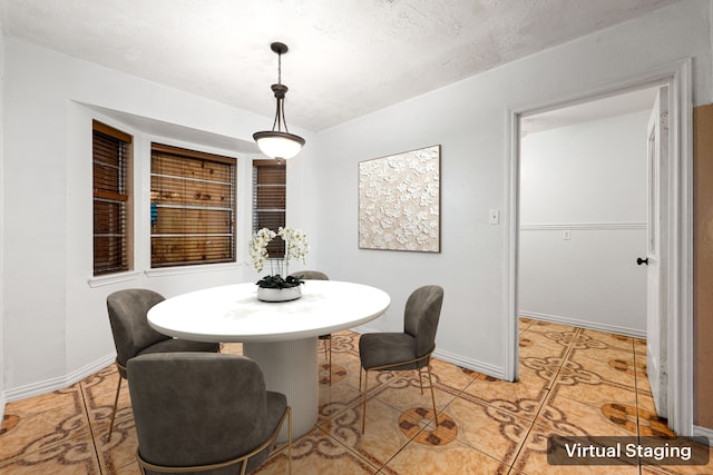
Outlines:
<svg viewBox="0 0 713 475"><path fill-rule="evenodd" d="M522 316L646 337L649 113L521 139Z"/></svg>

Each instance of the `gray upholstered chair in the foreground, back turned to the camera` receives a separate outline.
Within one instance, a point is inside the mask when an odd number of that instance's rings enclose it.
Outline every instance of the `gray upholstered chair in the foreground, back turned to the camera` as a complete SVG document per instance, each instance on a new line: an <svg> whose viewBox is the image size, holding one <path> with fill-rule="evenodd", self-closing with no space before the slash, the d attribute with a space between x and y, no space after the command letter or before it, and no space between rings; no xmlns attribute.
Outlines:
<svg viewBox="0 0 713 475"><path fill-rule="evenodd" d="M251 473L272 453L292 414L283 394L265 390L257 363L238 355L165 353L127 365L143 474Z"/></svg>

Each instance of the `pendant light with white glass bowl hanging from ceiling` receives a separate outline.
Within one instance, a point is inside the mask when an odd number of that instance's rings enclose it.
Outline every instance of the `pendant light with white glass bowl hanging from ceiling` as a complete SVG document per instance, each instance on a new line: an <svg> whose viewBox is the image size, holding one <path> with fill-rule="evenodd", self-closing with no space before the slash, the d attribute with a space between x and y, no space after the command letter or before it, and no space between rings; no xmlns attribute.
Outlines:
<svg viewBox="0 0 713 475"><path fill-rule="evenodd" d="M272 130L255 132L253 133L253 139L255 139L257 147L260 147L263 154L282 164L283 160L292 158L300 152L304 145L304 139L294 133L290 133L287 122L285 121L284 100L287 93L287 87L282 83L282 55L287 52L287 46L274 42L270 46L270 49L277 53L277 83L272 85L272 91L275 93L275 99L277 100L277 110L275 111Z"/></svg>

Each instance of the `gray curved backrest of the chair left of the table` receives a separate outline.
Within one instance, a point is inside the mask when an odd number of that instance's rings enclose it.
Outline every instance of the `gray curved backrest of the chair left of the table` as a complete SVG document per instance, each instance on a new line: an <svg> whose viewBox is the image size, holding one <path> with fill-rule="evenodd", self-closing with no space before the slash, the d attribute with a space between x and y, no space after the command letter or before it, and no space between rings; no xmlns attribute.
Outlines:
<svg viewBox="0 0 713 475"><path fill-rule="evenodd" d="M121 366L141 349L170 338L152 328L146 318L148 310L163 300L160 294L143 288L118 290L107 297L116 358Z"/></svg>

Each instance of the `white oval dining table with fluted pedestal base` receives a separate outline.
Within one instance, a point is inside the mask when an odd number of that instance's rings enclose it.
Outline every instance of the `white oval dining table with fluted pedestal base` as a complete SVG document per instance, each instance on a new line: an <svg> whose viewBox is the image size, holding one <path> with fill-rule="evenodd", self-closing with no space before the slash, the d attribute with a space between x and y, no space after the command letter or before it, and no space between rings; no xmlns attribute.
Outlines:
<svg viewBox="0 0 713 475"><path fill-rule="evenodd" d="M256 294L247 283L178 295L154 306L148 323L177 338L243 343L267 389L286 395L299 437L318 420L318 336L381 316L391 298L375 287L338 280L306 280L302 297L291 301L265 303ZM286 438L284 431L280 438Z"/></svg>

